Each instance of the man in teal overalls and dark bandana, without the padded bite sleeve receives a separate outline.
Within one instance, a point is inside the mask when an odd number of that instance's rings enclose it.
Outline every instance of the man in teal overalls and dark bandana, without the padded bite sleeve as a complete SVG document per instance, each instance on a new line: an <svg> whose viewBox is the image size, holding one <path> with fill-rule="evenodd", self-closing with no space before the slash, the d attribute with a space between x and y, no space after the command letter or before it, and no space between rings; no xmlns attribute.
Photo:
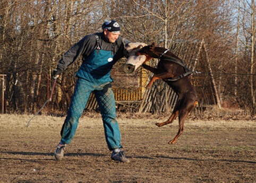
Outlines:
<svg viewBox="0 0 256 183"><path fill-rule="evenodd" d="M112 66L120 58L127 57L127 52L123 39L119 36L120 26L116 21L105 22L102 29L103 32L87 35L74 44L53 71L53 77L57 78L66 67L82 56L83 63L76 72L75 90L61 131L62 138L54 153L56 160L63 158L66 144L70 144L73 139L79 118L93 92L103 120L107 146L112 151L111 159L130 162L121 151L121 134L116 121L115 98L110 84L113 81L110 77Z"/></svg>

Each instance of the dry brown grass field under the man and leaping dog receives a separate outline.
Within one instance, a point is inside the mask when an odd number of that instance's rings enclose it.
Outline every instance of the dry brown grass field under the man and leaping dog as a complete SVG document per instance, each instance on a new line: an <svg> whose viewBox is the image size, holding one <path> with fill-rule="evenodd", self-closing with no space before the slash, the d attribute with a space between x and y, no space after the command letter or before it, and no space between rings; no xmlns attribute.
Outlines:
<svg viewBox="0 0 256 183"><path fill-rule="evenodd" d="M256 182L256 122L185 122L118 116L131 163L110 159L99 115L84 115L62 161L54 159L64 117L0 115L0 182Z"/></svg>

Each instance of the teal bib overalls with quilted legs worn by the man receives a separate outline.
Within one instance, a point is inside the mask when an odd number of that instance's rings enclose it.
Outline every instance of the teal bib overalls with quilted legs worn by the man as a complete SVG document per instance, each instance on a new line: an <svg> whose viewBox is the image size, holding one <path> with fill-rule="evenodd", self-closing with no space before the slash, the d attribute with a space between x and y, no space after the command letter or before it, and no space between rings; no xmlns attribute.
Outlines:
<svg viewBox="0 0 256 183"><path fill-rule="evenodd" d="M91 92L93 92L103 120L108 149L122 148L120 129L116 121L115 98L110 84L113 81L110 78L110 70L113 66L111 53L111 51L106 50L93 51L76 73L78 79L63 125L61 139L63 143L70 144L72 141L79 118L86 107Z"/></svg>

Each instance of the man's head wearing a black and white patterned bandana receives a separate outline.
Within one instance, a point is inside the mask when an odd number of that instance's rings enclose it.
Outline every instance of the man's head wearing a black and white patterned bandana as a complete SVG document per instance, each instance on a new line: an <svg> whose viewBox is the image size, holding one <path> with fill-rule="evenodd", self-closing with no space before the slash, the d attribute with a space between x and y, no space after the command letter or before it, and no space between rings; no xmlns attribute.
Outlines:
<svg viewBox="0 0 256 183"><path fill-rule="evenodd" d="M114 43L118 36L120 35L120 26L119 24L112 20L106 21L102 26L105 38L109 41Z"/></svg>

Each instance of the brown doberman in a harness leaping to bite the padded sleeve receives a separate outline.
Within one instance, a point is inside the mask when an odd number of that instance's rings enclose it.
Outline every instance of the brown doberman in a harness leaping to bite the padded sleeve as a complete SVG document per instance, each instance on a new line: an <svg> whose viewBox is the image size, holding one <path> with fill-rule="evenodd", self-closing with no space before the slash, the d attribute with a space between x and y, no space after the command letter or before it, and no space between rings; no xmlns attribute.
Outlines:
<svg viewBox="0 0 256 183"><path fill-rule="evenodd" d="M151 71L154 75L151 78L147 88L150 88L153 81L157 79L163 79L175 93L179 99L176 103L172 115L166 122L156 123L157 126L161 127L169 123L173 123L175 118L178 116L178 133L175 138L169 141L169 144L176 142L177 138L183 133L184 122L187 115L195 107L197 102L197 93L191 84L189 75L193 74L192 71L186 68L182 59L175 56L174 53L170 52L166 48L156 47L155 43L147 45L135 52L136 56L146 56L146 60L143 61L142 67ZM159 58L157 68L153 68L145 64L146 61L152 58ZM133 69L131 65L124 66ZM124 68L125 69L125 68Z"/></svg>

